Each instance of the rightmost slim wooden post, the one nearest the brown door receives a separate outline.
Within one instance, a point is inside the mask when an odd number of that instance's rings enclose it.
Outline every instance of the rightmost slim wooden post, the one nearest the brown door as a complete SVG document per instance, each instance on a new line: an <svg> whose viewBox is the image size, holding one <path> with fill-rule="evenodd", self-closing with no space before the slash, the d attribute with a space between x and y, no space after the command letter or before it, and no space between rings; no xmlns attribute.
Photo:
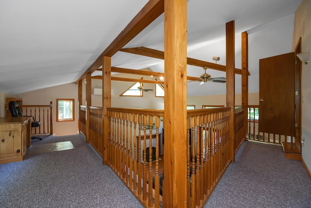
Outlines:
<svg viewBox="0 0 311 208"><path fill-rule="evenodd" d="M242 33L242 106L244 107L243 138L247 132L247 113L248 113L248 34Z"/></svg>

